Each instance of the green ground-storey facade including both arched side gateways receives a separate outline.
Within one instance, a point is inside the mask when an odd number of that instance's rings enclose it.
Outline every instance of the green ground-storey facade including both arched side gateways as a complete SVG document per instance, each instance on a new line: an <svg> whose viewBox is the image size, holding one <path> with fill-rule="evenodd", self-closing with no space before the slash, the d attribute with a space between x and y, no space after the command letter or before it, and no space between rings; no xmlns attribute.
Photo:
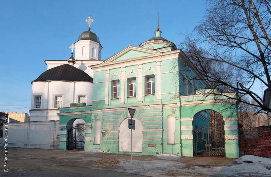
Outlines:
<svg viewBox="0 0 271 177"><path fill-rule="evenodd" d="M208 110L216 111L223 117L224 126L219 134L225 142L223 153L228 158L239 157L238 110L234 99L235 93L218 94L213 89L197 90L194 95L180 96L180 102L174 104L156 104L134 107L136 110L136 130L133 135L137 140L135 153L157 155L174 153L180 156L195 155L196 126L210 122ZM68 147L68 130L75 119L85 122L84 149L101 148L109 153L127 153L129 149L127 107L93 109L92 106L61 108L59 115L60 143L59 149ZM206 119L204 117L207 114ZM203 121L202 121L203 120ZM216 121L217 123L218 121ZM224 128L223 128L224 127ZM193 135L194 134L194 135ZM209 133L208 133L208 136ZM208 137L205 135L205 137ZM81 137L82 138L82 137ZM206 148L220 148L205 144ZM203 145L203 146L205 146Z"/></svg>

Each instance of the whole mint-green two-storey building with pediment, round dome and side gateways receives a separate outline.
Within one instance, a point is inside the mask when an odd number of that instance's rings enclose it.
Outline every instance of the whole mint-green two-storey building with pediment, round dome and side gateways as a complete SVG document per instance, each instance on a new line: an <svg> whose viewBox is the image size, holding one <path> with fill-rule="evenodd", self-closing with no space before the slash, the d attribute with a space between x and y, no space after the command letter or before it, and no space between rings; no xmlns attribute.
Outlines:
<svg viewBox="0 0 271 177"><path fill-rule="evenodd" d="M90 35L87 40L97 38L93 32L82 34ZM79 146L83 140L85 150L130 153L127 108L133 108L134 154L193 156L199 139L194 133L210 124L209 110L214 110L223 116L226 157L239 157L237 108L227 99L235 94L215 95L216 89L210 89L200 73L189 70L189 62L182 50L161 37L157 27L155 37L138 47L127 46L100 64L89 66L93 70L92 105L73 103L59 108L59 149ZM78 128L69 134L76 119L85 122L85 129L77 135ZM200 134L200 138L204 136L211 138L209 133ZM216 149L210 140L203 147Z"/></svg>

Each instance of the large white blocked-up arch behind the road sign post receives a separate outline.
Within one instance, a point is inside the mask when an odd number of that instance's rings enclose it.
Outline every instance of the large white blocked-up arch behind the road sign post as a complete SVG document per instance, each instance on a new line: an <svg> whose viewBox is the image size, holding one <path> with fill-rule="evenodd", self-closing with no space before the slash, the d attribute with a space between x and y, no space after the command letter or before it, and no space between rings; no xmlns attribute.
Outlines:
<svg viewBox="0 0 271 177"><path fill-rule="evenodd" d="M131 129L128 128L128 120L131 118L124 119L119 125L119 152L131 152ZM135 130L132 130L132 140L133 140L133 152L142 152L142 142L143 142L143 127L141 122L135 120Z"/></svg>

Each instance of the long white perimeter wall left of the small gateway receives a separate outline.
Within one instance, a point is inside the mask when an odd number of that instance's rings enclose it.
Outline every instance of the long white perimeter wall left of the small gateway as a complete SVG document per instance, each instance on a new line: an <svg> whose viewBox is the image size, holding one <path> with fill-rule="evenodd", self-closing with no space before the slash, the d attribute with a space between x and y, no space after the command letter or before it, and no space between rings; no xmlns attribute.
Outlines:
<svg viewBox="0 0 271 177"><path fill-rule="evenodd" d="M58 149L59 121L8 123L9 147ZM5 130L5 127L4 127ZM1 145L4 146L4 137Z"/></svg>

